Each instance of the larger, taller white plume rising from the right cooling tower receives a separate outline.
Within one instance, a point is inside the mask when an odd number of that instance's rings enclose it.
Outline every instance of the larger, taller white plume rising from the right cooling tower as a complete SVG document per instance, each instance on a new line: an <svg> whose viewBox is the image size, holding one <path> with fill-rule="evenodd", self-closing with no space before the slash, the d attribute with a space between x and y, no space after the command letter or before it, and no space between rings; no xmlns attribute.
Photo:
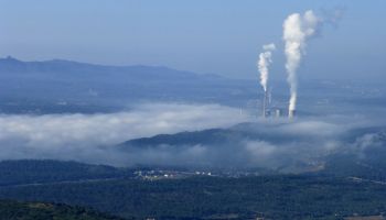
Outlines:
<svg viewBox="0 0 386 220"><path fill-rule="evenodd" d="M322 20L313 11L309 10L303 15L293 13L283 23L283 40L286 42L286 69L290 86L289 110L296 110L297 105L297 69L305 53L307 41L313 36L320 28Z"/></svg>

